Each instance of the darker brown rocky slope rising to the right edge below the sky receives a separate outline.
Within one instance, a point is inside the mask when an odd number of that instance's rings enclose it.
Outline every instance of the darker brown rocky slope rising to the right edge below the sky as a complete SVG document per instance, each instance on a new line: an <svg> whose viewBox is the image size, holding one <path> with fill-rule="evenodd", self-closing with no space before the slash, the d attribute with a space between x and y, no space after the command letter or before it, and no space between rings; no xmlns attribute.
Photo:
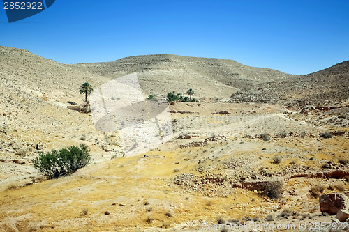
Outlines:
<svg viewBox="0 0 349 232"><path fill-rule="evenodd" d="M326 105L349 100L349 61L309 75L297 75L244 88L232 102L269 102L284 105Z"/></svg>

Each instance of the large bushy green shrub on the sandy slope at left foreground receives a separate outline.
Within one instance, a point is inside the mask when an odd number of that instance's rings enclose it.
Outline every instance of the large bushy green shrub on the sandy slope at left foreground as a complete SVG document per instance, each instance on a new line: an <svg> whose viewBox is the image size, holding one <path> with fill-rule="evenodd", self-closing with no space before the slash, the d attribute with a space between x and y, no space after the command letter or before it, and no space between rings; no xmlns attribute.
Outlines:
<svg viewBox="0 0 349 232"><path fill-rule="evenodd" d="M68 175L86 166L91 160L89 148L80 146L70 146L61 150L51 150L49 153L40 153L31 162L34 168L38 169L47 178L57 178Z"/></svg>

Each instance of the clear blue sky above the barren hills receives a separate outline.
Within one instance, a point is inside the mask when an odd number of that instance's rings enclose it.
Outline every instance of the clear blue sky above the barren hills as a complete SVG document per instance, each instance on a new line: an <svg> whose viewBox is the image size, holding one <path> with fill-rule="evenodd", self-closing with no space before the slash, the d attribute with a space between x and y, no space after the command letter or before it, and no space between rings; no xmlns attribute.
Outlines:
<svg viewBox="0 0 349 232"><path fill-rule="evenodd" d="M0 45L59 63L177 54L307 74L349 60L348 0L56 0L11 24L0 6Z"/></svg>

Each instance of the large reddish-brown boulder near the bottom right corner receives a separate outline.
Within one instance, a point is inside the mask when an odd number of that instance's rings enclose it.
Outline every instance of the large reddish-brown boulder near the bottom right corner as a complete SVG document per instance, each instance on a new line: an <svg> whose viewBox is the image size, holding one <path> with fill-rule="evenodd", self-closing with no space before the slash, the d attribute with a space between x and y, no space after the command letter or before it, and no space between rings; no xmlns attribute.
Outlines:
<svg viewBox="0 0 349 232"><path fill-rule="evenodd" d="M319 197L320 211L322 215L326 212L329 215L336 215L341 209L348 209L349 199L341 193L323 194Z"/></svg>

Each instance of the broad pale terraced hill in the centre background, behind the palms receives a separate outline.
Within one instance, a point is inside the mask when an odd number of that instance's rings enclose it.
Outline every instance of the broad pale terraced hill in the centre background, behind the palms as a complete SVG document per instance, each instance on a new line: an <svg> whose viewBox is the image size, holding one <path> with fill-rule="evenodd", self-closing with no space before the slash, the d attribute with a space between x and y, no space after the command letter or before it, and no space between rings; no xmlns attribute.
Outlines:
<svg viewBox="0 0 349 232"><path fill-rule="evenodd" d="M170 91L195 90L196 98L229 98L240 89L294 77L236 61L158 54L132 56L107 63L81 63L71 67L114 79L138 72L144 94L164 97Z"/></svg>

